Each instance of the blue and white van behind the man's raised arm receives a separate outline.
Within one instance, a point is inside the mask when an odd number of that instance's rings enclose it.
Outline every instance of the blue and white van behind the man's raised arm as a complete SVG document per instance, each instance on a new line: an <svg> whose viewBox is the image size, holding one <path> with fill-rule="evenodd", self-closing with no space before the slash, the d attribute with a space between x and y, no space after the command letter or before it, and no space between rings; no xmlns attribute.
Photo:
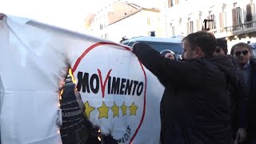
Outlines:
<svg viewBox="0 0 256 144"><path fill-rule="evenodd" d="M157 37L135 37L122 41L126 46L132 46L134 42L145 42L152 46L159 53L172 51L175 57L181 59L182 55L182 38L157 38Z"/></svg>

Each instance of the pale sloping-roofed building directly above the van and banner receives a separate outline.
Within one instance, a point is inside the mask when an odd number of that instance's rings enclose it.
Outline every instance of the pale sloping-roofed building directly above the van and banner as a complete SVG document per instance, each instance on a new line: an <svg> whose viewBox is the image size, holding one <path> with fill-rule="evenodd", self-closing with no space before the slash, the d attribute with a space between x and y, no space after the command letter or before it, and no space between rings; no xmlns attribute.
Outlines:
<svg viewBox="0 0 256 144"><path fill-rule="evenodd" d="M162 37L160 10L144 8L129 2L110 2L95 14L88 31L94 36L120 42L122 37Z"/></svg>

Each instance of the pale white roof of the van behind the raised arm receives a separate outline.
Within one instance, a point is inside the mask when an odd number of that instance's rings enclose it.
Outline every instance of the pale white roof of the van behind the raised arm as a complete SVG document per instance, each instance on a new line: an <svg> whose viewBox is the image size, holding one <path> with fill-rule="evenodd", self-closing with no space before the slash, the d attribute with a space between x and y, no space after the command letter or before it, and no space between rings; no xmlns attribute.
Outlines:
<svg viewBox="0 0 256 144"><path fill-rule="evenodd" d="M181 43L182 38L157 38L157 37L135 37L130 38L125 41L122 41L122 43L126 42L172 42L172 43Z"/></svg>

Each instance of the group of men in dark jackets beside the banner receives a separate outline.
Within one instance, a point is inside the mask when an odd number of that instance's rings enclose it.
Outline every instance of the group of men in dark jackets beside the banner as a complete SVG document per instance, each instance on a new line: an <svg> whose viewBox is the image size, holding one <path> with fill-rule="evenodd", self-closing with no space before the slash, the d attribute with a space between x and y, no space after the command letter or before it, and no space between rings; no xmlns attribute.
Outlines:
<svg viewBox="0 0 256 144"><path fill-rule="evenodd" d="M251 48L206 31L182 40L182 61L143 42L133 52L166 87L161 102L163 144L256 143L256 63Z"/></svg>

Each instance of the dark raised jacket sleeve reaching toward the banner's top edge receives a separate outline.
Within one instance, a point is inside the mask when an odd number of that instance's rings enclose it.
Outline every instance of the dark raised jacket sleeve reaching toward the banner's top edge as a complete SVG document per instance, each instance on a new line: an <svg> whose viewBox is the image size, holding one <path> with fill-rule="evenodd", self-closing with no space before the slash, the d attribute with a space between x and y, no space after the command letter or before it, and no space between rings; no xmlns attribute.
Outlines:
<svg viewBox="0 0 256 144"><path fill-rule="evenodd" d="M134 54L148 70L150 70L164 86L198 86L202 81L203 70L194 62L175 61L162 57L158 51L145 43L134 45Z"/></svg>

